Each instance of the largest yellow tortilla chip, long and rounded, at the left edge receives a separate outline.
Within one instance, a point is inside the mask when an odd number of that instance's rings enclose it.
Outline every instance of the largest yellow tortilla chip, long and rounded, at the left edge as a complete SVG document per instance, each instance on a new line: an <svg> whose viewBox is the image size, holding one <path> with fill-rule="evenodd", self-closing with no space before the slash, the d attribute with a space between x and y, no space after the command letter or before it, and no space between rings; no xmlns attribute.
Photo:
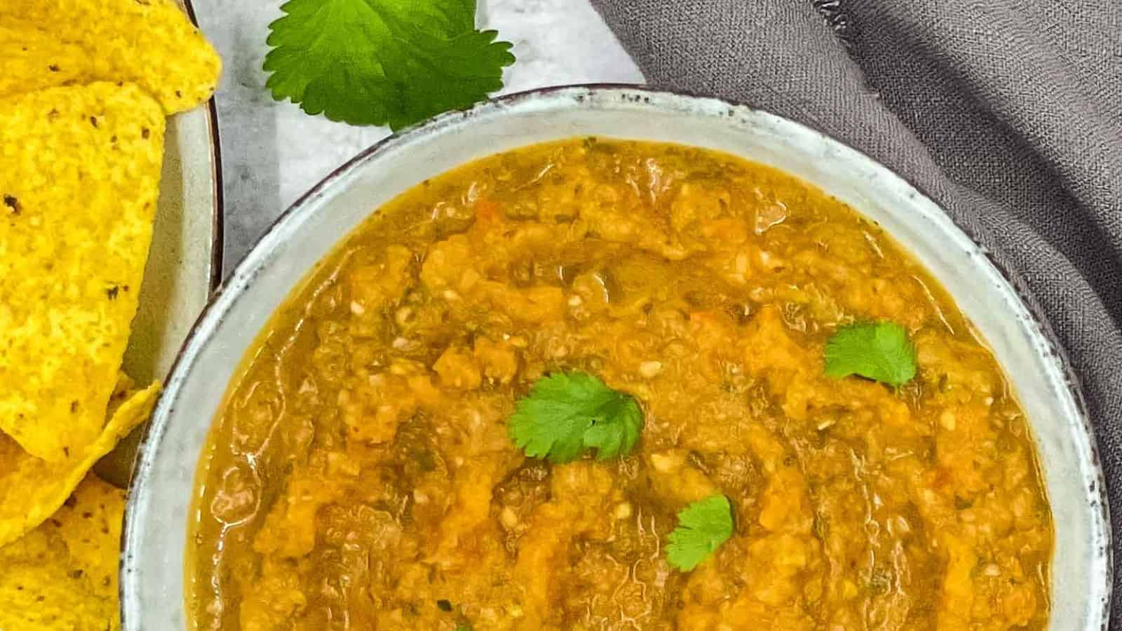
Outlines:
<svg viewBox="0 0 1122 631"><path fill-rule="evenodd" d="M105 422L148 258L164 122L132 84L0 100L0 430L39 458L76 456Z"/></svg>

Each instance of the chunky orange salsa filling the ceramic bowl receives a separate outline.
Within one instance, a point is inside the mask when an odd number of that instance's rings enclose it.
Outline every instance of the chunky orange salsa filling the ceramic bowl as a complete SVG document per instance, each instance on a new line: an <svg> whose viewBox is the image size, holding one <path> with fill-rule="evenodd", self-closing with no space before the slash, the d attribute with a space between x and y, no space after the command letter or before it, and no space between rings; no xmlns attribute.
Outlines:
<svg viewBox="0 0 1122 631"><path fill-rule="evenodd" d="M914 377L826 374L862 322ZM1047 625L1001 368L876 225L765 166L592 138L469 164L374 214L246 362L199 473L196 629ZM548 375L634 402L637 442L527 456ZM729 530L689 567L699 502Z"/></svg>

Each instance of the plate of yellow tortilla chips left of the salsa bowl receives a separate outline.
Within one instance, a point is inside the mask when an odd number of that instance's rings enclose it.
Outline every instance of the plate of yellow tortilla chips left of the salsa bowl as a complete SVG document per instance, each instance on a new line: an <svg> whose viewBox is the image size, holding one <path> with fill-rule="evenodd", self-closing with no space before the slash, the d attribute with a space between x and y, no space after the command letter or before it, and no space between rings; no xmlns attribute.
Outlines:
<svg viewBox="0 0 1122 631"><path fill-rule="evenodd" d="M0 1L0 630L118 629L159 379L221 272L221 62L177 0Z"/></svg>

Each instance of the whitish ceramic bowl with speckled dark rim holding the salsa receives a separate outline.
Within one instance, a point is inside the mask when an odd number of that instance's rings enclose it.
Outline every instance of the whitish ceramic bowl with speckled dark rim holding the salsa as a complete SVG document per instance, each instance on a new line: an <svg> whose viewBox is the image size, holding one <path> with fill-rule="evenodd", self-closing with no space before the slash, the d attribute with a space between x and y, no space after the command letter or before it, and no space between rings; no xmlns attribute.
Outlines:
<svg viewBox="0 0 1122 631"><path fill-rule="evenodd" d="M234 369L285 296L371 212L421 181L573 136L679 143L769 164L894 236L974 322L1031 421L1056 523L1050 629L1105 629L1110 523L1089 423L1061 354L986 253L908 182L818 131L725 101L625 86L548 89L438 117L366 150L277 221L200 319L156 409L126 515L125 629L184 628L195 466Z"/></svg>

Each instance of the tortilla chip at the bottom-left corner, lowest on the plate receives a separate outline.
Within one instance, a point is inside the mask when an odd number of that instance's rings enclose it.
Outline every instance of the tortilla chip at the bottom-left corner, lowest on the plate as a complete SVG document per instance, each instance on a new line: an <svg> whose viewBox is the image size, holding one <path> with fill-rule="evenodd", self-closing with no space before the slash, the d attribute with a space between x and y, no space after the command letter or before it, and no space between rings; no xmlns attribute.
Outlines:
<svg viewBox="0 0 1122 631"><path fill-rule="evenodd" d="M0 548L0 629L120 629L125 492L90 474L53 518Z"/></svg>

